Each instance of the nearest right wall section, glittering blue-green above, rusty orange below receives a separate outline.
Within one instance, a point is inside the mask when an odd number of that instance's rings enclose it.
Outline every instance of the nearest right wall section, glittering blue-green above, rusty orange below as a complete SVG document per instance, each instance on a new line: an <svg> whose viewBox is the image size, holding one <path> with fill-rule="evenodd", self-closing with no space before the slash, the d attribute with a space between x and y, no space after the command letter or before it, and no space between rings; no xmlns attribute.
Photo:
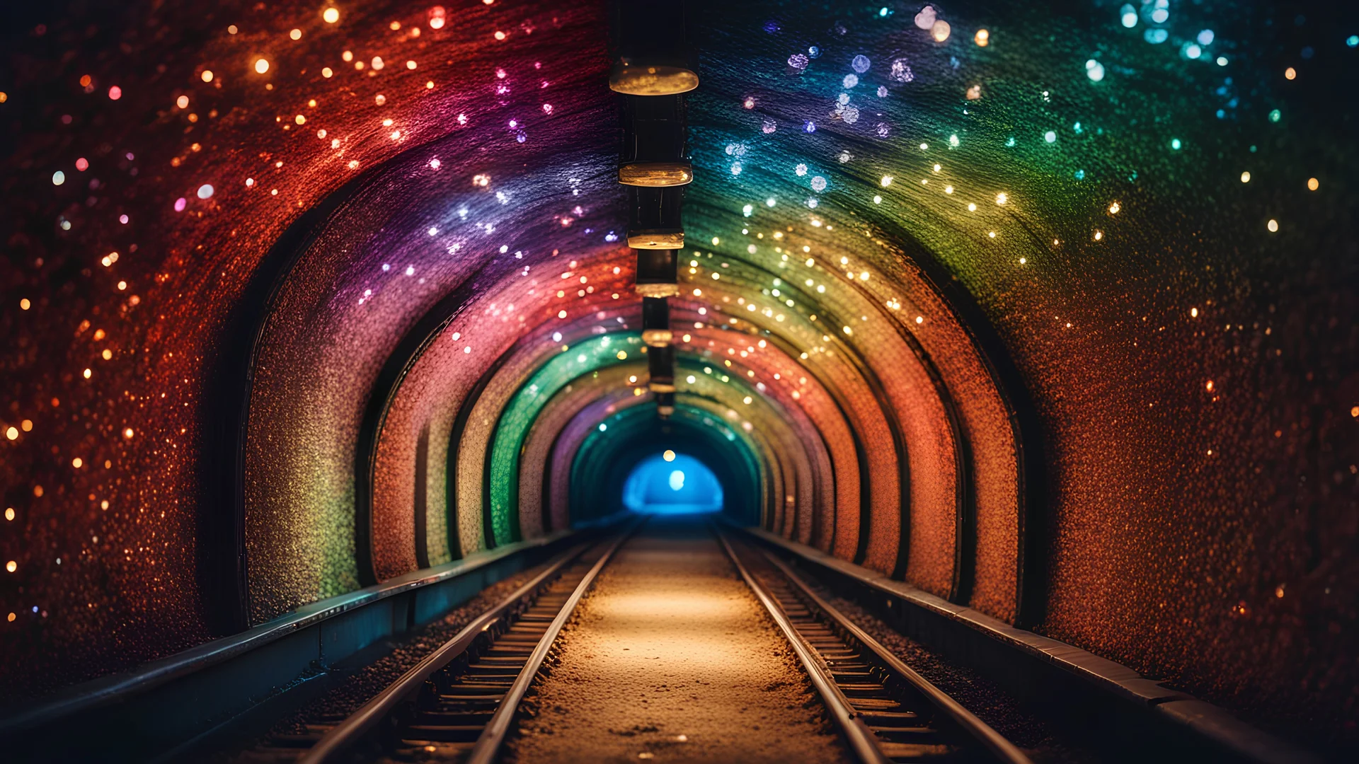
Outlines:
<svg viewBox="0 0 1359 764"><path fill-rule="evenodd" d="M942 317L909 262L965 290L1037 406L1040 631L1352 737L1354 159L1326 98L1349 33L1322 4L978 4L939 10L942 41L877 11L707 23L689 235L777 268L792 226L921 336ZM972 398L973 604L1007 617L1014 455L958 337L927 347Z"/></svg>

